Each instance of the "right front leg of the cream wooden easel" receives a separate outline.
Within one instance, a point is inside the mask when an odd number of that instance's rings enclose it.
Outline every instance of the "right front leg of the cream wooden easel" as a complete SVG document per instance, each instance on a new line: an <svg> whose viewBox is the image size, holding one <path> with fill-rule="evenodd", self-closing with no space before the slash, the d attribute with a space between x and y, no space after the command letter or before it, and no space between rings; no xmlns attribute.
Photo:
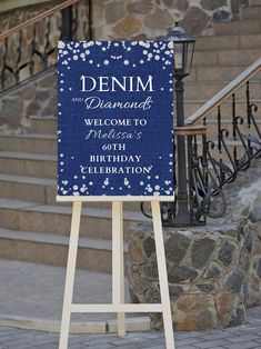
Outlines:
<svg viewBox="0 0 261 349"><path fill-rule="evenodd" d="M165 265L165 253L164 253L164 240L163 231L160 216L160 202L152 201L152 218L154 227L154 239L155 239L155 251L158 256L158 270L159 270L159 280L160 280L160 295L161 302L163 308L163 323L165 331L165 346L167 349L174 349L174 336L171 318L171 308L170 308L170 295L169 295L169 282Z"/></svg>

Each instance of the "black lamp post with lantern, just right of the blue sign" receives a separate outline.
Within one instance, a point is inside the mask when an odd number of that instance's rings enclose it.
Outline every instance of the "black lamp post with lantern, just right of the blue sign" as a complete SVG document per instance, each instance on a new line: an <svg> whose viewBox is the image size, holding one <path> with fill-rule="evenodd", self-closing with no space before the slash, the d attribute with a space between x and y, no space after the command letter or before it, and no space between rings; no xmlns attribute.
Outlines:
<svg viewBox="0 0 261 349"><path fill-rule="evenodd" d="M164 41L173 43L174 53L174 91L177 106L177 127L184 126L183 81L190 74L194 51L194 38L188 36L183 28L175 23ZM175 227L191 226L189 211L189 196L187 187L185 138L177 136L177 163L178 163L178 211L173 220Z"/></svg>

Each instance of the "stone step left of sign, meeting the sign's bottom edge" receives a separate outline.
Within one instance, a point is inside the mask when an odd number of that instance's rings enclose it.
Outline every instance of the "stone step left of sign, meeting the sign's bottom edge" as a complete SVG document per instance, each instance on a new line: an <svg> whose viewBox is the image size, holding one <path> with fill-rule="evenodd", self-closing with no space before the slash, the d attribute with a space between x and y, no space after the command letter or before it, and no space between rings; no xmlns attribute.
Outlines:
<svg viewBox="0 0 261 349"><path fill-rule="evenodd" d="M24 200L43 205L58 205L57 181L49 178L23 177L0 173L0 193L2 198ZM59 203L60 205L71 205ZM110 209L110 202L89 202L89 207L98 209ZM139 202L126 202L124 209L140 211Z"/></svg>

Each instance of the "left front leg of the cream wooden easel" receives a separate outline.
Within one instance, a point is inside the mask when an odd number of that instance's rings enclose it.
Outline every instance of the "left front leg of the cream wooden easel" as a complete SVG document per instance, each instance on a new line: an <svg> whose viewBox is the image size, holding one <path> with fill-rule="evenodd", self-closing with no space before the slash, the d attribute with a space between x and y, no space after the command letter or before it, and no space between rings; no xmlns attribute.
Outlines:
<svg viewBox="0 0 261 349"><path fill-rule="evenodd" d="M81 202L73 202L59 349L68 348L68 336L71 319L71 303L76 276L80 219L81 219Z"/></svg>

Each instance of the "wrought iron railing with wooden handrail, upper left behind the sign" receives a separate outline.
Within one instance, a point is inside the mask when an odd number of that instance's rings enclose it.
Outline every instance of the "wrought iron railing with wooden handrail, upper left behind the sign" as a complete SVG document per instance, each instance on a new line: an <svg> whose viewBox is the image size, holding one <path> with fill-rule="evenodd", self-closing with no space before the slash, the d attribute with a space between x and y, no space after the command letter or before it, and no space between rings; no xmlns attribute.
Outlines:
<svg viewBox="0 0 261 349"><path fill-rule="evenodd" d="M58 40L90 40L91 4L67 0L0 34L0 93L56 64Z"/></svg>

